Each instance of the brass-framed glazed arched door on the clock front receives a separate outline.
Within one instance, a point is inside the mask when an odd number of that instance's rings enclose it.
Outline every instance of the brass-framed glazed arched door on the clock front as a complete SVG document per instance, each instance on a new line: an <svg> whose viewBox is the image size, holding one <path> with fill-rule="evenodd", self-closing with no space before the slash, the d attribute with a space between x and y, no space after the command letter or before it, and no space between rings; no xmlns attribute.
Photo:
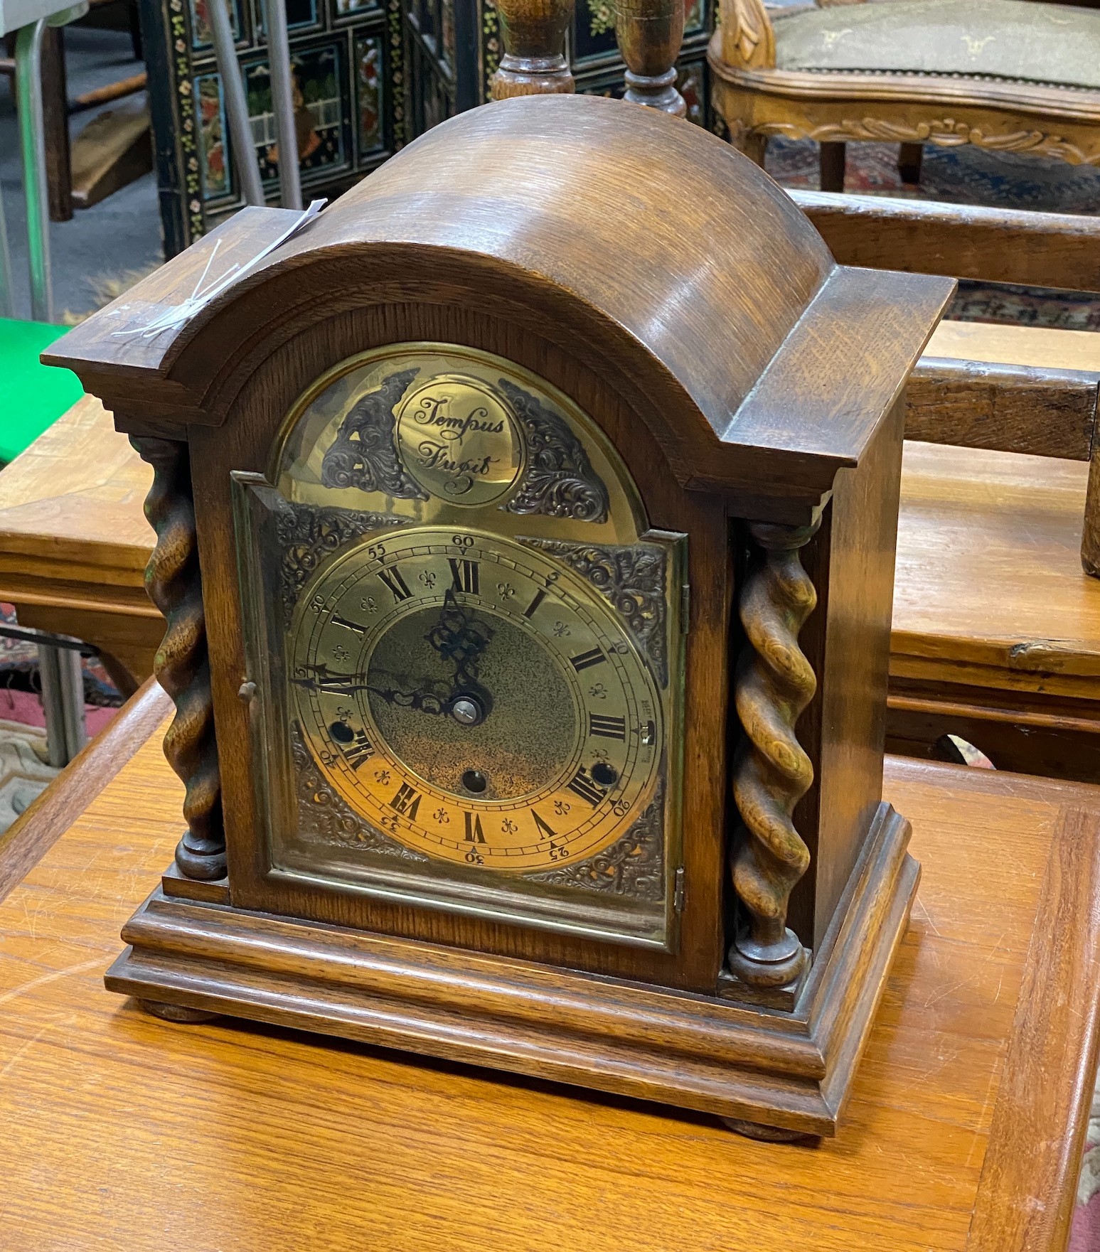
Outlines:
<svg viewBox="0 0 1100 1252"><path fill-rule="evenodd" d="M234 505L268 875L674 950L685 541L595 423L391 346Z"/></svg>

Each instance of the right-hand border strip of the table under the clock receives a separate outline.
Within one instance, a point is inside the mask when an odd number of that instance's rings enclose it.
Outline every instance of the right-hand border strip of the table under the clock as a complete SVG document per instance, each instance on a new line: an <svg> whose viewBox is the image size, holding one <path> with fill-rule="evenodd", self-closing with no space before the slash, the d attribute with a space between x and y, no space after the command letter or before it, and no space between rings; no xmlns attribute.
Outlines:
<svg viewBox="0 0 1100 1252"><path fill-rule="evenodd" d="M1100 1050L1097 896L1100 806L1064 809L997 1088L968 1252L1065 1247Z"/></svg>

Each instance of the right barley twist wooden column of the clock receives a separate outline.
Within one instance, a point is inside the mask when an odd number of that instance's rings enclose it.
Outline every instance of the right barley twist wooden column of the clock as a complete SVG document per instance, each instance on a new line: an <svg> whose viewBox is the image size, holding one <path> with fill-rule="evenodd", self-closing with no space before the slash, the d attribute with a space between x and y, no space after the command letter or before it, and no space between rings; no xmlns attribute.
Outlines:
<svg viewBox="0 0 1100 1252"><path fill-rule="evenodd" d="M787 929L787 904L809 865L791 814L813 782L794 724L817 690L798 647L798 632L817 603L798 550L816 530L752 526L760 552L740 597L748 642L738 662L735 700L745 740L734 765L740 828L730 869L748 929L734 939L728 960L730 973L759 988L791 983L806 962L798 936Z"/></svg>

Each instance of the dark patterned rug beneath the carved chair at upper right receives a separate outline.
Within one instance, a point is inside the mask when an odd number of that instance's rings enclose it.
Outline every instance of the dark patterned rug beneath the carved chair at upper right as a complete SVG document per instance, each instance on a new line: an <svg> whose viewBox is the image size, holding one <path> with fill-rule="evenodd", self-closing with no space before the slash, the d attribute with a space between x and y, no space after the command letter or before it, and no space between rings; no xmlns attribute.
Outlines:
<svg viewBox="0 0 1100 1252"><path fill-rule="evenodd" d="M861 195L985 204L1046 213L1100 213L1100 169L1050 158L981 148L925 148L920 189L897 172L897 144L848 144L844 189ZM817 189L818 149L809 141L773 139L768 173L783 187ZM947 317L961 322L1015 322L1064 331L1100 331L1100 293L1051 292L999 283L958 284Z"/></svg>

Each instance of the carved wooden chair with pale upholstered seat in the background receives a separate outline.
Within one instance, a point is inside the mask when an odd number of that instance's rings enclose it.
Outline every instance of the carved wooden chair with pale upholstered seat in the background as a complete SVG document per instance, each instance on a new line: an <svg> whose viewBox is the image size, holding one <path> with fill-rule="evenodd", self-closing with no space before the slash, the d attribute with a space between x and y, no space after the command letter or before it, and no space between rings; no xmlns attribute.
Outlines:
<svg viewBox="0 0 1100 1252"><path fill-rule="evenodd" d="M844 145L902 145L917 182L926 143L1100 163L1100 13L1026 0L720 0L714 100L733 143L814 139L822 190Z"/></svg>

